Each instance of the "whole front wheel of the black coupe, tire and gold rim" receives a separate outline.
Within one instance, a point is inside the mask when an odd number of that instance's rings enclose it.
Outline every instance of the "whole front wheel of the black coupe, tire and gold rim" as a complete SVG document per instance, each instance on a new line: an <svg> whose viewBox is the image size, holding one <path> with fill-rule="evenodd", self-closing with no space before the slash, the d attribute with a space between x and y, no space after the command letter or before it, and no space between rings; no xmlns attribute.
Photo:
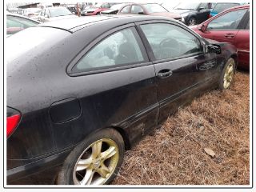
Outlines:
<svg viewBox="0 0 256 192"><path fill-rule="evenodd" d="M219 90L227 90L233 83L235 73L235 61L234 58L229 58L222 70L221 77L218 82Z"/></svg>

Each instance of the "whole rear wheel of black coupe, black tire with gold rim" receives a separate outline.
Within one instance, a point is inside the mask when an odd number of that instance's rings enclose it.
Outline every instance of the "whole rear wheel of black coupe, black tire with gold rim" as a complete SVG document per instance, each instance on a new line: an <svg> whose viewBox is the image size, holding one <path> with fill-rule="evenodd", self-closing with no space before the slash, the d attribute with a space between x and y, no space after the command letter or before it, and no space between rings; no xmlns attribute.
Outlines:
<svg viewBox="0 0 256 192"><path fill-rule="evenodd" d="M118 174L123 155L124 142L121 134L110 128L99 130L74 147L63 163L56 183L58 185L109 184Z"/></svg>

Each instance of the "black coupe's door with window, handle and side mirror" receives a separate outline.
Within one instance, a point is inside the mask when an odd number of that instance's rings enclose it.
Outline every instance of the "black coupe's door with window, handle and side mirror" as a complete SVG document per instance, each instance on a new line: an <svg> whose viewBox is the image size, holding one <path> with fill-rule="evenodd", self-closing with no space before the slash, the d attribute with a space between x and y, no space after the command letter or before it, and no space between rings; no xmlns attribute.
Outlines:
<svg viewBox="0 0 256 192"><path fill-rule="evenodd" d="M169 22L138 23L158 78L159 122L190 102L216 68L214 54L205 55L193 32ZM213 73L214 74L214 73Z"/></svg>

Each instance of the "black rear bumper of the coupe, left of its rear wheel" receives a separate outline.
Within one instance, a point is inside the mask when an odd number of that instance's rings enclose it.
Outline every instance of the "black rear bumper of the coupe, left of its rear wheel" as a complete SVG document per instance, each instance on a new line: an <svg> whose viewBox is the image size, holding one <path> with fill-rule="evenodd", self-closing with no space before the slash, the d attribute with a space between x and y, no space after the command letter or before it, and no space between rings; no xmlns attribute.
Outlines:
<svg viewBox="0 0 256 192"><path fill-rule="evenodd" d="M56 175L70 150L7 170L7 185L47 184L54 182Z"/></svg>

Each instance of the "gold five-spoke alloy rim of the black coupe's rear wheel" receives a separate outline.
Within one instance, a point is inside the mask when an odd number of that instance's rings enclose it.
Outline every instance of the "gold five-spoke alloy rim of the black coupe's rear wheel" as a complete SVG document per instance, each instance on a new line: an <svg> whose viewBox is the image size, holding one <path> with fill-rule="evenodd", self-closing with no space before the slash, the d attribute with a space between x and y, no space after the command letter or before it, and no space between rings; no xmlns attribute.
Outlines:
<svg viewBox="0 0 256 192"><path fill-rule="evenodd" d="M93 142L74 166L75 185L102 185L114 173L119 160L118 145L110 138Z"/></svg>

